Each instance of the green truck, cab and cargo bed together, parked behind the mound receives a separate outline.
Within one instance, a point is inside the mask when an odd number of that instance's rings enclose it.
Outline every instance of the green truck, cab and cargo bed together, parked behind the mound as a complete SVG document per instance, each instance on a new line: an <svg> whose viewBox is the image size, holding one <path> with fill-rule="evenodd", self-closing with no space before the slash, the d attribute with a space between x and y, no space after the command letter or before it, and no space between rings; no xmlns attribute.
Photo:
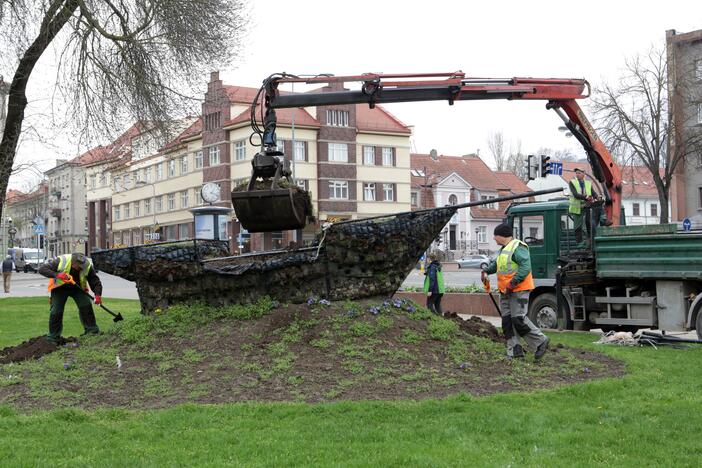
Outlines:
<svg viewBox="0 0 702 468"><path fill-rule="evenodd" d="M506 212L531 254L531 320L576 330L697 330L702 339L702 233L675 224L596 226L578 242L568 204L512 204Z"/></svg>

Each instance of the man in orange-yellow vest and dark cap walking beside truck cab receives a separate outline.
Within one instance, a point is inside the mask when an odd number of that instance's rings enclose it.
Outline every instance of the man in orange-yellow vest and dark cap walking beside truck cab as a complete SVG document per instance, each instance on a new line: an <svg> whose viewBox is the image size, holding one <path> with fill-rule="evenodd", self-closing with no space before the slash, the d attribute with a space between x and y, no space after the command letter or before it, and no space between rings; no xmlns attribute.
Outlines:
<svg viewBox="0 0 702 468"><path fill-rule="evenodd" d="M535 350L534 356L541 359L548 349L549 339L534 325L527 312L529 310L529 293L534 289L531 275L531 258L529 247L519 239L512 237L512 227L500 224L495 228L494 239L502 246L495 260L485 267L481 279L485 283L488 275L497 273L497 287L500 290L500 313L503 318L511 319L513 330L504 330L507 339L507 356L523 358L524 349L519 338ZM503 323L509 323L503 320Z"/></svg>

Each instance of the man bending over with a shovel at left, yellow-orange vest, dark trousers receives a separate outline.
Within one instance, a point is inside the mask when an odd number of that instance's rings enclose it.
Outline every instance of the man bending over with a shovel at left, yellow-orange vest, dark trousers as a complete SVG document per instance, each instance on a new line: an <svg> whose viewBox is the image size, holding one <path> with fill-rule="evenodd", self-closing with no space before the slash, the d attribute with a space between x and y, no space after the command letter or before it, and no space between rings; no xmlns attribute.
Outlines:
<svg viewBox="0 0 702 468"><path fill-rule="evenodd" d="M88 285L95 294L95 303L102 302L102 283L93 261L82 253L61 255L39 268L39 273L49 278L49 292L51 293L51 309L49 313L49 334L46 339L53 343L60 343L63 330L63 310L66 301L72 297L78 306L80 323L85 330L84 334L97 334L100 329L95 322L95 312L87 294Z"/></svg>

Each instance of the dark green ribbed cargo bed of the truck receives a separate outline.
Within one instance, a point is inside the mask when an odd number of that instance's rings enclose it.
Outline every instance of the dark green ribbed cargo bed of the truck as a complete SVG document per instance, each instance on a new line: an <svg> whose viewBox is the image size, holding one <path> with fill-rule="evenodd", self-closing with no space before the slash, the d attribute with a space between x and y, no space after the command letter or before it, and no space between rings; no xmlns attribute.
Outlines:
<svg viewBox="0 0 702 468"><path fill-rule="evenodd" d="M597 277L702 280L702 233L675 224L600 228Z"/></svg>

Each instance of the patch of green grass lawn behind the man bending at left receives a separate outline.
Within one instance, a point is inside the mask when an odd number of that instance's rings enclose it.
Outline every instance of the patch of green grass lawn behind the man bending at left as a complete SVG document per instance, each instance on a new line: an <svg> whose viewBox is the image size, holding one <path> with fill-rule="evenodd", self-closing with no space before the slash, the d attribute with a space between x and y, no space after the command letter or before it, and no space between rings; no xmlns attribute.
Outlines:
<svg viewBox="0 0 702 468"><path fill-rule="evenodd" d="M139 301L106 298L105 306L125 319L139 314ZM112 316L93 305L98 326L106 330L113 325ZM0 299L0 348L14 346L29 338L49 332L49 298L6 297ZM78 319L78 308L68 299L63 313L63 336L78 336L83 327ZM0 461L0 463L2 463Z"/></svg>

